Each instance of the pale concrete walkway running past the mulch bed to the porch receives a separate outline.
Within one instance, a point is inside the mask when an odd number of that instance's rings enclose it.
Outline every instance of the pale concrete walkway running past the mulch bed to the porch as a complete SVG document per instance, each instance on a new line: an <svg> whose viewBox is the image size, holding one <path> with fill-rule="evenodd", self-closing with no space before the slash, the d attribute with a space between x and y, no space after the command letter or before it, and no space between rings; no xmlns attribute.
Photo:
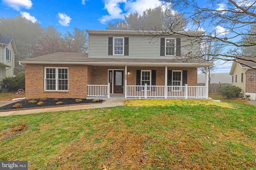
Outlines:
<svg viewBox="0 0 256 170"><path fill-rule="evenodd" d="M37 109L21 109L14 111L0 111L0 116L10 116L10 115L25 115L31 113L43 113L50 111L65 111L65 110L79 110L79 109L93 109L100 107L114 107L114 106L124 106L124 100L129 100L125 98L99 98L105 100L102 104L83 104L74 106L57 106L57 107L46 107ZM7 104L11 104L17 101L0 101L0 107Z"/></svg>

